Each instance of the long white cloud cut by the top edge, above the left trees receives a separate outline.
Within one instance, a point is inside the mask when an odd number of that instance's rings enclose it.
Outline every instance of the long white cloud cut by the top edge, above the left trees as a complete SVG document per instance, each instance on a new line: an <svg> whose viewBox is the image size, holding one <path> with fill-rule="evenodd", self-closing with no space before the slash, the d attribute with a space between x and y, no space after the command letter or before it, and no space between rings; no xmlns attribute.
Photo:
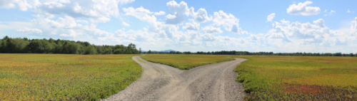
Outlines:
<svg viewBox="0 0 357 101"><path fill-rule="evenodd" d="M86 18L91 22L104 23L110 21L111 16L119 16L119 4L128 4L134 0L27 0L25 2L29 3L29 1L32 3L28 8L34 8L33 14L36 17L54 18L64 14L73 18Z"/></svg>

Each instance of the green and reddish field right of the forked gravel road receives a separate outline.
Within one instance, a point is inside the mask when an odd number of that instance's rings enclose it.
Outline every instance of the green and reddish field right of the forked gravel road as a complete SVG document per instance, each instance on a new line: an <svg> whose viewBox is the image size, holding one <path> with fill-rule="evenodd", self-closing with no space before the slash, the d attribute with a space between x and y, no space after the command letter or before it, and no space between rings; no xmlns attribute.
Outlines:
<svg viewBox="0 0 357 101"><path fill-rule="evenodd" d="M357 58L252 56L236 68L245 100L357 100Z"/></svg>

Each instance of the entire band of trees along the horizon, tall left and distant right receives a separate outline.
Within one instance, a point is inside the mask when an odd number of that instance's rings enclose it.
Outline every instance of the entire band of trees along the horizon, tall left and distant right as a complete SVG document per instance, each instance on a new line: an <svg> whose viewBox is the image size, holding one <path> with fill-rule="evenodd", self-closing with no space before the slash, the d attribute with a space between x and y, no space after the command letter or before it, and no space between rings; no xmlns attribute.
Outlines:
<svg viewBox="0 0 357 101"><path fill-rule="evenodd" d="M29 39L29 38L9 38L5 36L0 39L0 53L61 53L61 54L138 54L141 48L136 49L135 44L128 46L96 46L84 41L54 40L53 38ZM306 56L357 56L353 53L273 53L273 52L248 52L236 50L221 51L147 51L147 54L206 54L206 55L306 55Z"/></svg>

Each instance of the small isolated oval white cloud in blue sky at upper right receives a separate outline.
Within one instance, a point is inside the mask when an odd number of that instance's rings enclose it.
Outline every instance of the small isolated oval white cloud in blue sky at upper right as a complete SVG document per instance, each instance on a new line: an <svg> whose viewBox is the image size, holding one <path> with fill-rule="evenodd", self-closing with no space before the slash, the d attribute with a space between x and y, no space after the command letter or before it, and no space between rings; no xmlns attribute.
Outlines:
<svg viewBox="0 0 357 101"><path fill-rule="evenodd" d="M286 9L286 12L288 14L303 15L303 16L311 16L311 15L319 14L321 11L319 7L306 6L312 3L313 3L312 1L305 1L303 3L298 3L298 5L292 4L288 7L288 9Z"/></svg>

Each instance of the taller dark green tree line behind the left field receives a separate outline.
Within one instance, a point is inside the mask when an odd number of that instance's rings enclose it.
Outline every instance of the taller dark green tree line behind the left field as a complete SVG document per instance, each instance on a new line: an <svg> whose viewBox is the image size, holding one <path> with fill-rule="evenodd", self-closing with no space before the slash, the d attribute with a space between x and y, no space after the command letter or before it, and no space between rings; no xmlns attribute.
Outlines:
<svg viewBox="0 0 357 101"><path fill-rule="evenodd" d="M0 39L0 53L61 53L61 54L138 54L135 44L128 46L96 46L84 41L9 38Z"/></svg>

